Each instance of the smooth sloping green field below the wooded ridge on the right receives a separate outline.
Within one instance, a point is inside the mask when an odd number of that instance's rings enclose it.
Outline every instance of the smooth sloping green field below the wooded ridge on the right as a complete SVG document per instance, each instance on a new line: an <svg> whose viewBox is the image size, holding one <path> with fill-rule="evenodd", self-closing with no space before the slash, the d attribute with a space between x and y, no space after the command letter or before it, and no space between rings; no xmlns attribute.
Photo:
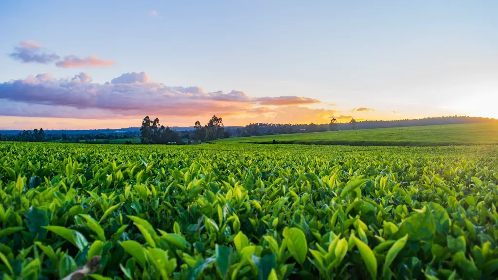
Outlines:
<svg viewBox="0 0 498 280"><path fill-rule="evenodd" d="M400 131L400 129L402 129L402 131ZM278 143L336 144L360 146L438 146L461 144L497 144L498 123L269 135L231 138L217 140L217 142L271 143L273 139L275 139Z"/></svg>

